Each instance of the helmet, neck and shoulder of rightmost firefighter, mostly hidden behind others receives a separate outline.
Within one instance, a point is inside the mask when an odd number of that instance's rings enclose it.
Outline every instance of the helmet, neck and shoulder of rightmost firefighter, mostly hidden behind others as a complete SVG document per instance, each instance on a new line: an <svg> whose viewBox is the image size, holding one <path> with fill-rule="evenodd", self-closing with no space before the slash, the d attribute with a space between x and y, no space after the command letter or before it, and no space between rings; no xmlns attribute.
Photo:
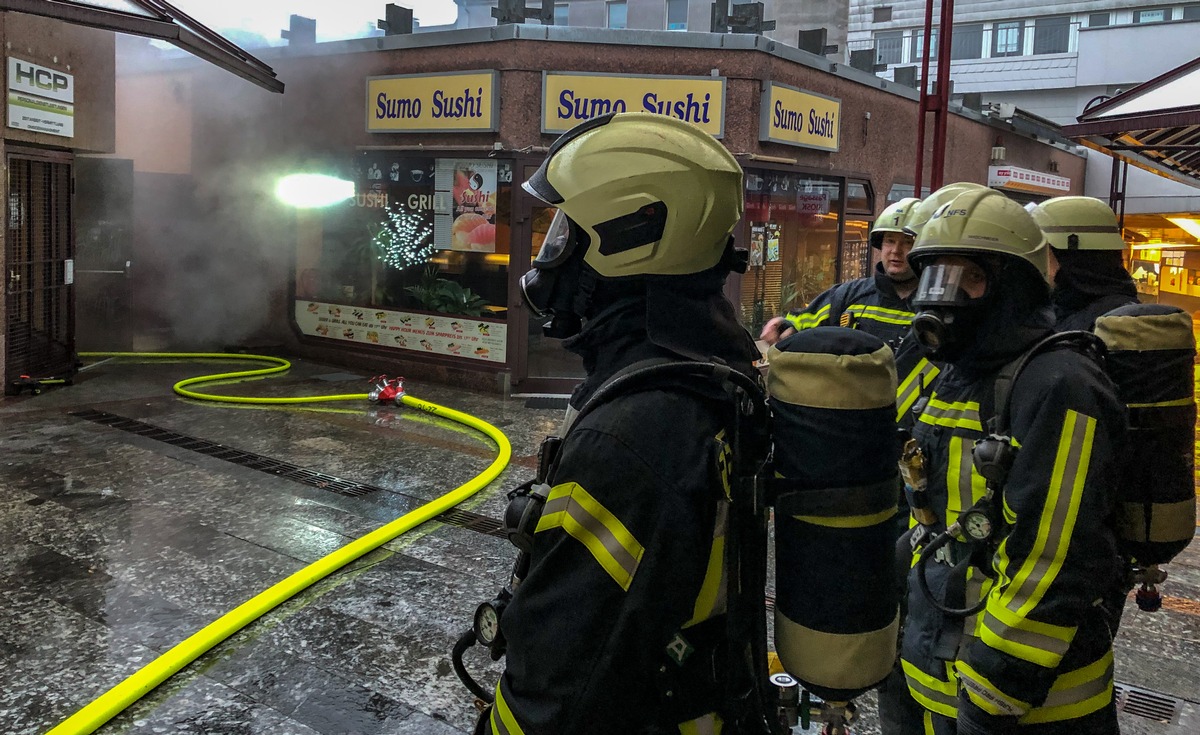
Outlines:
<svg viewBox="0 0 1200 735"><path fill-rule="evenodd" d="M1030 214L1051 247L1058 331L1091 331L1096 317L1138 303L1138 287L1122 259L1121 226L1108 204L1092 197L1055 197Z"/></svg>

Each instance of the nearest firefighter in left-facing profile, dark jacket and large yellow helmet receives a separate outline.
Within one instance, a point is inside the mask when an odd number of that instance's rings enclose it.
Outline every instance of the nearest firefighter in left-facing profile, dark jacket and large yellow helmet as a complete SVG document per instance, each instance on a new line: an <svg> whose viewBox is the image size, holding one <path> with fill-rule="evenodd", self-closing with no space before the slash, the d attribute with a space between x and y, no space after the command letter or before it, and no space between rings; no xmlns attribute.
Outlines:
<svg viewBox="0 0 1200 735"><path fill-rule="evenodd" d="M587 377L478 731L720 733L713 664L734 645L722 615L730 399L671 381L586 406L614 376L656 364L757 377L754 339L721 291L745 269L730 234L742 169L700 127L620 113L564 133L524 189L559 211L523 295Z"/></svg>

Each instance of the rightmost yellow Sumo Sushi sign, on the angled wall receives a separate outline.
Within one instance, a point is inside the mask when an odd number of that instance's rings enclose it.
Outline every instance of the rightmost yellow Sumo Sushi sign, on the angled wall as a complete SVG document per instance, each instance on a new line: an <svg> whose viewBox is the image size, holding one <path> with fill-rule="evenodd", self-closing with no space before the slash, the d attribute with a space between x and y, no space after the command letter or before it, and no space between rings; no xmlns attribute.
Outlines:
<svg viewBox="0 0 1200 735"><path fill-rule="evenodd" d="M768 82L762 90L760 141L836 151L841 100Z"/></svg>

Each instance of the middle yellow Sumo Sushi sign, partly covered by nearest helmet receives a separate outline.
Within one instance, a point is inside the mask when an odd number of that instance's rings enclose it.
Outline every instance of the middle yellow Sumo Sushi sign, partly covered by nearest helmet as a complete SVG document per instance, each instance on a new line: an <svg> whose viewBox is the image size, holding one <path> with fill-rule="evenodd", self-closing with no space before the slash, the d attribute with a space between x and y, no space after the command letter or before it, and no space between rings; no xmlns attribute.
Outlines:
<svg viewBox="0 0 1200 735"><path fill-rule="evenodd" d="M545 72L541 132L560 133L607 113L653 112L725 133L725 77Z"/></svg>

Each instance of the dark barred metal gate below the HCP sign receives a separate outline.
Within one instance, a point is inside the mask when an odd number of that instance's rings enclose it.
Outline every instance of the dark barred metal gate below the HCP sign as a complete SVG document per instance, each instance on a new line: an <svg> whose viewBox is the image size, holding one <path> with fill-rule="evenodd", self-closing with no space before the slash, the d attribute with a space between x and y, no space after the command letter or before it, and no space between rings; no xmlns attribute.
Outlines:
<svg viewBox="0 0 1200 735"><path fill-rule="evenodd" d="M71 157L12 153L5 291L5 393L20 377L70 377L74 371Z"/></svg>

